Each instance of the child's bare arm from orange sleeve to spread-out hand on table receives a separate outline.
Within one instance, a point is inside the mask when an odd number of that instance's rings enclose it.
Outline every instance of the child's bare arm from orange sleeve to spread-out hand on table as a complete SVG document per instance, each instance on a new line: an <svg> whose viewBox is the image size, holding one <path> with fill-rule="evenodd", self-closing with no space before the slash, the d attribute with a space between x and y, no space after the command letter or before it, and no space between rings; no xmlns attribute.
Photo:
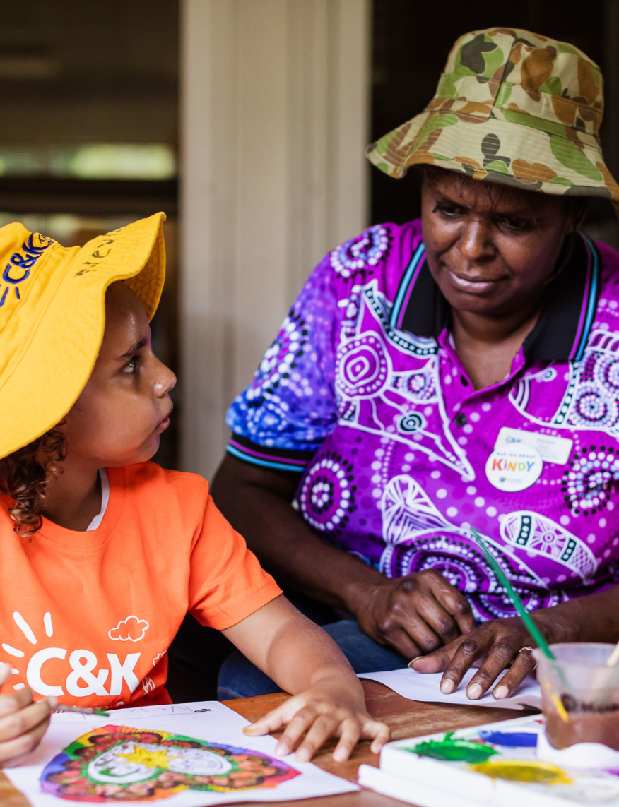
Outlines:
<svg viewBox="0 0 619 807"><path fill-rule="evenodd" d="M334 759L347 759L360 737L372 738L376 754L390 730L365 709L360 681L339 647L283 596L259 608L225 636L293 697L260 717L247 734L268 734L287 728L277 744L278 754L297 746L297 759L306 762L326 738L339 737ZM305 734L306 733L306 734ZM305 739L299 742L302 735Z"/></svg>

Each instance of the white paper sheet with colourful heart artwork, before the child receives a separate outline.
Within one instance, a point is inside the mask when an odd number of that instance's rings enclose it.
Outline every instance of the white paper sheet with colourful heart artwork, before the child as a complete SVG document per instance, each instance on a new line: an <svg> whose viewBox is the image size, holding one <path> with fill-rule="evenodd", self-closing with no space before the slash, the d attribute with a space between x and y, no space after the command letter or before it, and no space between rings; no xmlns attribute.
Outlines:
<svg viewBox="0 0 619 807"><path fill-rule="evenodd" d="M6 776L33 807L140 804L201 807L286 801L356 790L272 737L246 737L247 721L217 701L116 709L109 717L54 714L40 746Z"/></svg>

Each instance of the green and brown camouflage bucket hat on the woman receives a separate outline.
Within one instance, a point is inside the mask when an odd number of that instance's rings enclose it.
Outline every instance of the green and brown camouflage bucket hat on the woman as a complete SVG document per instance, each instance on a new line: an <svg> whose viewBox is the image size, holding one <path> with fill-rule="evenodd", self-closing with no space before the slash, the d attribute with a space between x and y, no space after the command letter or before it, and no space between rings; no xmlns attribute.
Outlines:
<svg viewBox="0 0 619 807"><path fill-rule="evenodd" d="M571 44L513 28L472 31L449 53L421 115L368 146L390 177L426 163L547 194L601 196L619 185L600 146L600 68Z"/></svg>

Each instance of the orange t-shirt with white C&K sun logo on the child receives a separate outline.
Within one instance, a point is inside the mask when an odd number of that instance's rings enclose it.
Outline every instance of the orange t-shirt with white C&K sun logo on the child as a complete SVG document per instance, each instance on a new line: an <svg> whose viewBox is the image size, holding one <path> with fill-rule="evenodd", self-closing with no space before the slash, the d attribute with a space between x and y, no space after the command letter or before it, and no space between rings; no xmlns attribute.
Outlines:
<svg viewBox="0 0 619 807"><path fill-rule="evenodd" d="M153 462L108 468L103 521L75 532L43 519L20 538L0 508L0 660L61 703L170 703L167 654L190 611L236 625L280 588L232 529L198 475Z"/></svg>

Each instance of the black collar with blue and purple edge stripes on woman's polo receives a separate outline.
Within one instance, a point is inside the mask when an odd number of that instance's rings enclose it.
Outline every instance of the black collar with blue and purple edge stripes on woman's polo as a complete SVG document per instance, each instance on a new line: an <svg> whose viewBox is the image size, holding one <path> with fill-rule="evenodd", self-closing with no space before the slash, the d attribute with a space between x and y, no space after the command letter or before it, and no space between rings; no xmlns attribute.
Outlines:
<svg viewBox="0 0 619 807"><path fill-rule="evenodd" d="M559 261L565 260L561 255ZM579 233L558 276L550 282L544 310L524 340L524 356L532 362L558 362L583 357L600 296L601 261L593 242ZM418 337L438 337L448 328L451 311L427 266L419 245L395 298L391 324Z"/></svg>

